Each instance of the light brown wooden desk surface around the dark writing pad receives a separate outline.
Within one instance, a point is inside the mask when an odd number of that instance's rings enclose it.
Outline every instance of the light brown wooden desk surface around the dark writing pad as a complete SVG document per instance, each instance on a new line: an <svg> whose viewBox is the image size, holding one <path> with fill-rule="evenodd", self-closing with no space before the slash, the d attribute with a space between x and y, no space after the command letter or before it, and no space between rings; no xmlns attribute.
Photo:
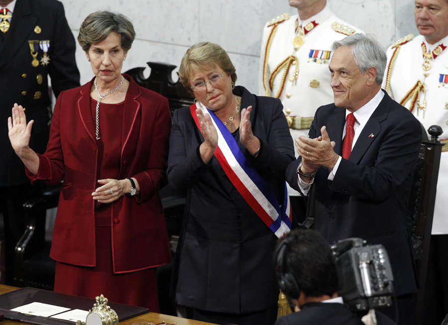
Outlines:
<svg viewBox="0 0 448 325"><path fill-rule="evenodd" d="M6 286L4 284L0 284L0 294L14 291L17 289L18 288L16 288L16 287L10 287L10 286ZM133 317L131 319L128 319L128 320L125 320L122 322L120 321L119 324L120 325L132 325L133 323L137 323L137 322L152 322L154 324L159 324L159 323L163 323L163 321L165 321L165 323L168 323L168 324L177 323L177 325L213 325L211 323L193 321L193 320L189 320L186 318L179 318L179 317L175 317L175 316L169 316L169 315L163 315L163 314L157 314L157 313L151 313L151 312L137 316L137 317ZM18 324L23 324L23 323L13 322L13 321L9 321L9 320L3 320L0 323L0 325L18 325Z"/></svg>

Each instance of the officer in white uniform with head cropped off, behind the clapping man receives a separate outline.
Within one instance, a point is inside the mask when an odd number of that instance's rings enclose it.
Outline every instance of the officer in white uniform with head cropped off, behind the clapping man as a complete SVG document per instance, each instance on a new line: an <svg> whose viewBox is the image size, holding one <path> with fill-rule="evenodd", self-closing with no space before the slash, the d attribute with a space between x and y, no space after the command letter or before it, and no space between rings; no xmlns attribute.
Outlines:
<svg viewBox="0 0 448 325"><path fill-rule="evenodd" d="M263 29L258 93L280 98L295 139L308 137L316 109L334 101L328 68L333 42L362 31L336 17L327 0L289 0L289 5L298 14L277 16ZM288 192L300 195L290 187ZM293 211L299 204L294 201Z"/></svg>

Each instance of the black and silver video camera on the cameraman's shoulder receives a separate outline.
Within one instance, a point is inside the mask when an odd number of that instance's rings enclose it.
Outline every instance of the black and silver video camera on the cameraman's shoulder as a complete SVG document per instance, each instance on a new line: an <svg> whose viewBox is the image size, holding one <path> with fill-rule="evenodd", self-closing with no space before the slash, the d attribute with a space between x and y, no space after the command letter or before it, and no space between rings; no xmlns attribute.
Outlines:
<svg viewBox="0 0 448 325"><path fill-rule="evenodd" d="M338 295L352 310L391 305L393 275L383 245L347 238L332 245L339 279Z"/></svg>

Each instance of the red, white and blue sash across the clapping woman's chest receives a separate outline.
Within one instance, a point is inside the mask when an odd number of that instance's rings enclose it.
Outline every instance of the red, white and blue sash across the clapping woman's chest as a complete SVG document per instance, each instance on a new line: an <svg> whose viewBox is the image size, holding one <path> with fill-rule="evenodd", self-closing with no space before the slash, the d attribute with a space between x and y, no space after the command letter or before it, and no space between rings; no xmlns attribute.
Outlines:
<svg viewBox="0 0 448 325"><path fill-rule="evenodd" d="M213 125L218 133L218 148L215 157L224 169L231 183L239 194L255 211L260 219L277 236L282 238L291 230L291 207L285 182L285 195L282 206L277 202L274 192L269 184L258 174L255 168L247 161L238 147L230 131L224 123L203 104L197 102L190 106L190 113L201 131L196 109L212 117Z"/></svg>

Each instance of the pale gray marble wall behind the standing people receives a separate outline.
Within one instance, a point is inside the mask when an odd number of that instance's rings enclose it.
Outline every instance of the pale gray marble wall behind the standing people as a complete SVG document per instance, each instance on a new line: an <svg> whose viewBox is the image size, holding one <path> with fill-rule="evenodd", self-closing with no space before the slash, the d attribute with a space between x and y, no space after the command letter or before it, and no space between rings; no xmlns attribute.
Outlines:
<svg viewBox="0 0 448 325"><path fill-rule="evenodd" d="M229 54L238 75L237 84L256 92L264 24L276 15L297 9L288 0L61 0L75 35L91 12L121 12L134 24L137 38L123 64L123 72L146 67L146 62L179 65L185 51L201 41L220 44ZM341 19L376 35L384 47L409 33L418 34L411 0L329 0ZM79 47L76 60L81 83L92 70ZM176 71L173 80L176 81ZM145 74L149 76L149 68Z"/></svg>

